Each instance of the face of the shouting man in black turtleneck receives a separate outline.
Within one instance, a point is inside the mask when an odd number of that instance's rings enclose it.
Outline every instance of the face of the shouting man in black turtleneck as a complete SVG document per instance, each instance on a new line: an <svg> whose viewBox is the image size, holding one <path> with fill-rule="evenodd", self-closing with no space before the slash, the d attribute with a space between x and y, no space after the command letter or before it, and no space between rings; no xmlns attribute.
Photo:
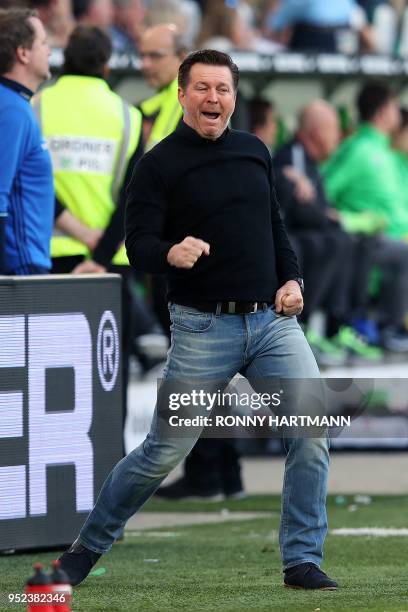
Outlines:
<svg viewBox="0 0 408 612"><path fill-rule="evenodd" d="M228 66L194 64L185 90L179 88L184 121L203 138L216 140L234 112L236 92Z"/></svg>

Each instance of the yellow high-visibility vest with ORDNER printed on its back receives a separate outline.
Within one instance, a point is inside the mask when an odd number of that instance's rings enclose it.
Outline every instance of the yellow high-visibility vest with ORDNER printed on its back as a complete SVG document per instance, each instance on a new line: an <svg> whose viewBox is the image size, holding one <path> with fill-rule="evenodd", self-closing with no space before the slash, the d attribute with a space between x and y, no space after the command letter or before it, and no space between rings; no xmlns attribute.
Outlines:
<svg viewBox="0 0 408 612"><path fill-rule="evenodd" d="M50 150L57 198L82 223L105 229L139 143L142 115L100 78L62 76L34 100ZM51 256L90 256L88 248L55 229ZM129 263L124 244L112 263Z"/></svg>

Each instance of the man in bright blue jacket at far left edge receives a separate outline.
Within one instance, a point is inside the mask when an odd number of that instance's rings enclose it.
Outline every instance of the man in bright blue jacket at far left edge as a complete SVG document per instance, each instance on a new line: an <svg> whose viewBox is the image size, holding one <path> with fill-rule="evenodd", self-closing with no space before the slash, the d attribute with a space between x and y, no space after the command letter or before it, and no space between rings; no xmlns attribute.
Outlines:
<svg viewBox="0 0 408 612"><path fill-rule="evenodd" d="M30 104L49 78L49 55L35 11L0 11L0 274L51 267L52 165Z"/></svg>

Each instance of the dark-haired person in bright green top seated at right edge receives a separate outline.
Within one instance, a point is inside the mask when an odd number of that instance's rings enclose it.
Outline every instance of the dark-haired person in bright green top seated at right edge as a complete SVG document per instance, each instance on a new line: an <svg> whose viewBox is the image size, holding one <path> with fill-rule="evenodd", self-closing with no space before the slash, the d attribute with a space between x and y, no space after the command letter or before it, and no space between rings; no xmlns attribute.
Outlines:
<svg viewBox="0 0 408 612"><path fill-rule="evenodd" d="M408 245L398 238L406 188L401 189L390 147L400 125L398 101L389 87L371 83L362 88L357 107L361 125L326 164L326 191L349 231L375 237L373 263L382 272L378 318L383 343L389 350L406 351Z"/></svg>

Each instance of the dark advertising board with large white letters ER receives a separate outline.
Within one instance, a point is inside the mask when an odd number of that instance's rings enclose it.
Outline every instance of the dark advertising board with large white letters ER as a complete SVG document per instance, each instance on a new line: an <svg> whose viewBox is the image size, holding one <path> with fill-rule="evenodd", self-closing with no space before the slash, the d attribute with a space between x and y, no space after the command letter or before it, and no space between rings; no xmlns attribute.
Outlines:
<svg viewBox="0 0 408 612"><path fill-rule="evenodd" d="M66 544L120 459L120 277L0 277L0 550Z"/></svg>

